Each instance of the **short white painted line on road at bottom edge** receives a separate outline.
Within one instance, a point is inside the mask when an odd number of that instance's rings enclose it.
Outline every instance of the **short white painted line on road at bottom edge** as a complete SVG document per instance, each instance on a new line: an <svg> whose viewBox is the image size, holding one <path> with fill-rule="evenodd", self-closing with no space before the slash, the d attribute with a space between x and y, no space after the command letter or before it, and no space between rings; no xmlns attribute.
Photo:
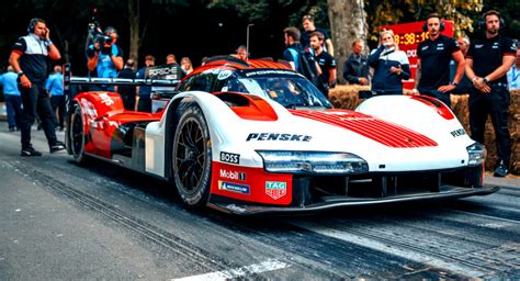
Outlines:
<svg viewBox="0 0 520 281"><path fill-rule="evenodd" d="M273 271L273 270L289 268L289 267L291 267L291 265L287 265L285 262L282 262L275 259L269 259L263 262L247 266L247 267L228 269L228 270L217 271L217 272L210 272L210 273L200 274L200 276L178 278L178 279L172 279L171 281L202 281L202 280L218 281L218 280L227 280L227 279L237 278L237 277L244 277L244 276L253 274L253 273Z"/></svg>

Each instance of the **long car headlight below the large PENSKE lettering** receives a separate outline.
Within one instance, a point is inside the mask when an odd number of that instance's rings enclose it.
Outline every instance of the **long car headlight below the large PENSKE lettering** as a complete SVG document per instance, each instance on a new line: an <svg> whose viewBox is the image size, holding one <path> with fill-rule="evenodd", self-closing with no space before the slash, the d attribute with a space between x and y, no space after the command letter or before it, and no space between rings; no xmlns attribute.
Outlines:
<svg viewBox="0 0 520 281"><path fill-rule="evenodd" d="M289 173L363 173L364 159L348 153L257 150L270 172Z"/></svg>

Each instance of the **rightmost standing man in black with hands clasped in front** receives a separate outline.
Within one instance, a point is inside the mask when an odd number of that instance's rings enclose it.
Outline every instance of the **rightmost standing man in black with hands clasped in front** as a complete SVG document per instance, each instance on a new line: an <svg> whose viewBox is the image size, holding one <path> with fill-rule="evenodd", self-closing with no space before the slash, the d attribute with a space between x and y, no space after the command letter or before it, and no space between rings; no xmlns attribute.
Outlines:
<svg viewBox="0 0 520 281"><path fill-rule="evenodd" d="M491 116L498 154L495 176L506 177L511 159L508 130L510 97L506 74L515 63L517 44L499 34L504 20L497 11L484 13L479 25L486 31L485 37L472 42L466 58L466 76L473 82L470 127L472 138L484 144L487 115Z"/></svg>

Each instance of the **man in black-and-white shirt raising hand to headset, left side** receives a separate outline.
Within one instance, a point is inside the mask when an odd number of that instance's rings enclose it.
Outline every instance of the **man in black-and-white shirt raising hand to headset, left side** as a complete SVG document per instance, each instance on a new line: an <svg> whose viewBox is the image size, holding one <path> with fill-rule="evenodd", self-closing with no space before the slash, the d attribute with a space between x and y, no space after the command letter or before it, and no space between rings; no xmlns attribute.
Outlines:
<svg viewBox="0 0 520 281"><path fill-rule="evenodd" d="M14 44L9 63L19 77L22 94L22 156L42 156L31 145L31 126L36 112L47 137L50 153L65 149L55 132L55 116L45 89L47 78L47 57L58 60L61 56L49 37L49 30L42 19L32 19L27 26L29 35L20 37Z"/></svg>

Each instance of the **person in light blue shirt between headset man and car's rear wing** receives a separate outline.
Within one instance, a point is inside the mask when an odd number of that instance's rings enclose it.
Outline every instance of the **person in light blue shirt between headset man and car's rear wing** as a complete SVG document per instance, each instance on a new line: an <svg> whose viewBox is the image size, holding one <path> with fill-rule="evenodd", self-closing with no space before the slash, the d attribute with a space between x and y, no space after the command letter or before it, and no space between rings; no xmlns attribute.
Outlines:
<svg viewBox="0 0 520 281"><path fill-rule="evenodd" d="M64 95L64 75L61 74L61 67L55 66L54 72L48 76L47 82L45 83L45 89L50 94L50 105L53 106L53 112L59 117L58 124L59 131L64 131L64 121L65 121L65 95Z"/></svg>

